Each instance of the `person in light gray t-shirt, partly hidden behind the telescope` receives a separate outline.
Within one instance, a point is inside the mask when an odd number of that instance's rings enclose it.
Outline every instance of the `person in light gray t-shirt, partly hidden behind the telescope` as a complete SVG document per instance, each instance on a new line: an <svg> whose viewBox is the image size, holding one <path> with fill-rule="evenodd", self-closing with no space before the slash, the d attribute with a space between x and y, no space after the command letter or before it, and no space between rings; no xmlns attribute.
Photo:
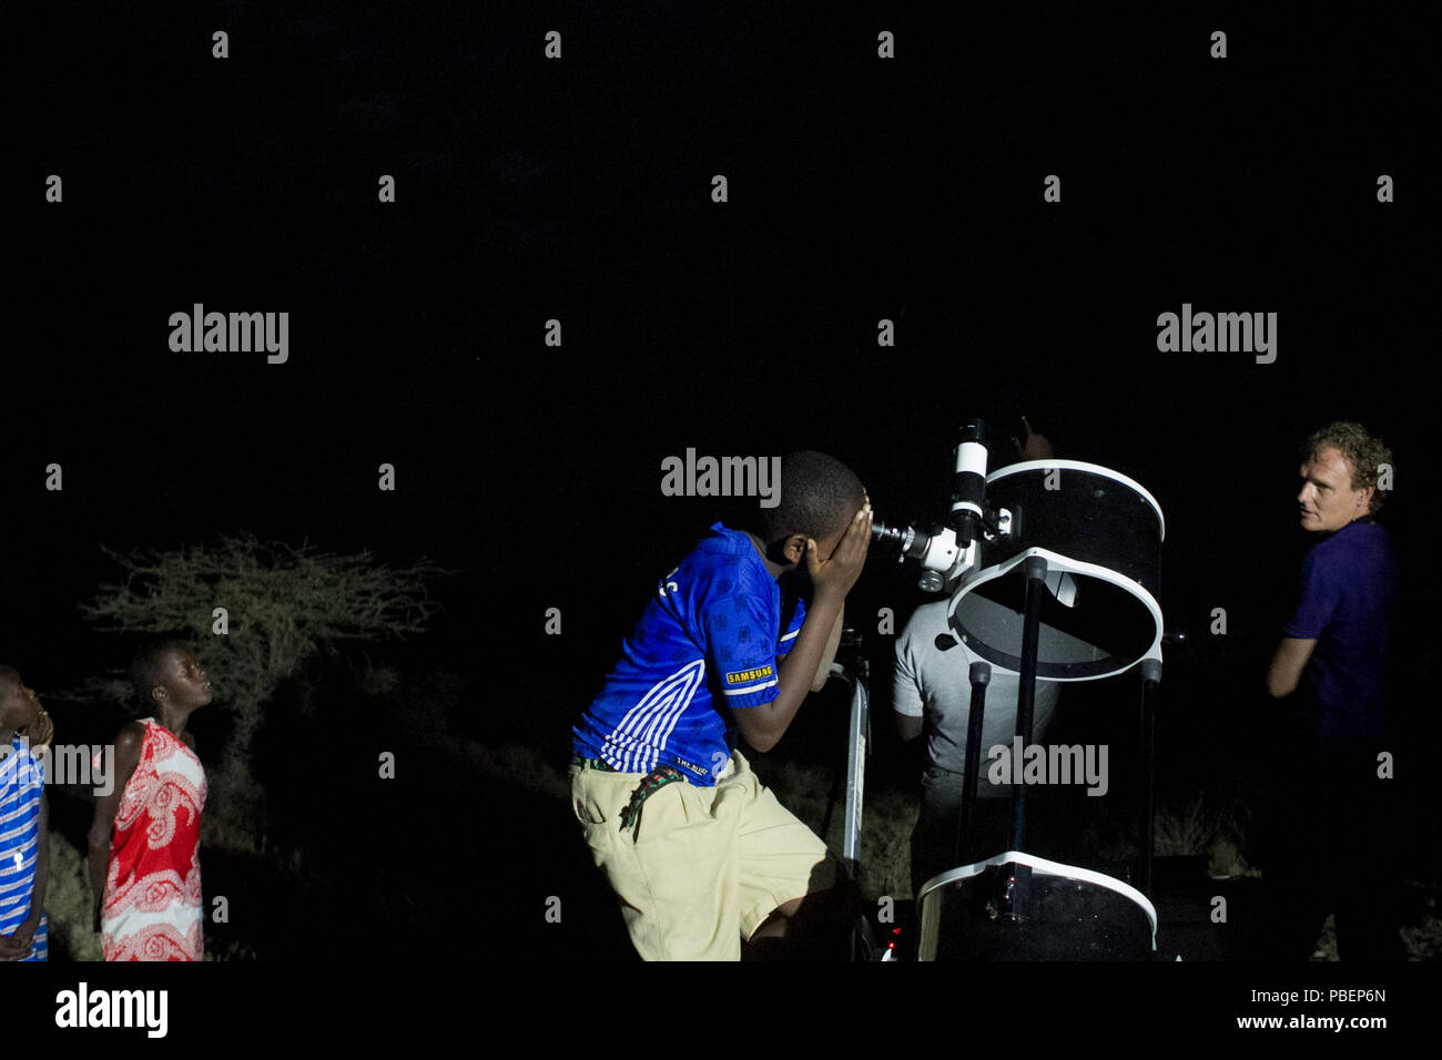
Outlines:
<svg viewBox="0 0 1442 1060"><path fill-rule="evenodd" d="M926 737L921 773L921 815L911 832L911 893L939 873L956 868L956 838L962 816L966 770L966 727L972 714L970 666L982 661L960 643L947 624L949 601L921 604L895 643L893 702L903 740ZM1021 678L992 669L982 715L982 750L973 847L988 858L1007 849L1011 786L986 777L986 750L1011 748L1017 736L1017 691ZM1032 743L1041 743L1057 705L1058 685L1038 681L1032 714ZM995 849L994 849L995 848Z"/></svg>

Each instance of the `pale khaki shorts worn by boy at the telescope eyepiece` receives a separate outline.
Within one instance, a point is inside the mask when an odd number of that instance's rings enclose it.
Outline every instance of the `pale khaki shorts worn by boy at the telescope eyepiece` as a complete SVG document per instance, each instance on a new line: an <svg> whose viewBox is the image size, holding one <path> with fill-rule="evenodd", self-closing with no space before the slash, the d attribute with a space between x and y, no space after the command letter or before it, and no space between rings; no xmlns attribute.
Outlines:
<svg viewBox="0 0 1442 1060"><path fill-rule="evenodd" d="M776 800L740 751L715 787L666 785L620 831L643 773L571 766L571 805L646 960L738 960L777 906L836 881L816 834Z"/></svg>

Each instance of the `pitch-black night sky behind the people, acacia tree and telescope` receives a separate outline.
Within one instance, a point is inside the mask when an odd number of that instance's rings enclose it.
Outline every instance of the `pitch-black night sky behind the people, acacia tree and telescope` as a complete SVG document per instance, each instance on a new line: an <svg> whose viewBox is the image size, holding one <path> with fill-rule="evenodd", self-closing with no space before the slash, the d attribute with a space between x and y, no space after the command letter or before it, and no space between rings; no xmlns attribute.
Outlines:
<svg viewBox="0 0 1442 1060"><path fill-rule="evenodd" d="M215 29L229 59L211 58ZM1208 58L1214 29L1227 59ZM1206 773L1256 730L1306 545L1298 446L1351 418L1396 454L1410 746L1435 733L1419 156L1436 115L1400 16L61 3L17 43L0 658L42 694L123 662L76 613L115 574L99 544L245 529L460 570L446 617L389 658L464 675L459 738L559 763L656 577L754 511L663 498L666 456L820 449L881 518L937 518L962 418L1007 434L1025 414L1058 456L1159 500L1161 600L1194 639L1169 663L1161 753ZM43 200L50 173L63 205ZM1060 203L1041 199L1050 173ZM1376 200L1381 173L1394 203ZM167 317L195 301L290 312L290 362L172 353ZM1156 316L1184 301L1276 312L1276 362L1159 353ZM50 461L63 493L43 489ZM375 487L382 461L395 493ZM877 564L855 611L891 606L900 626L916 600ZM1226 639L1207 636L1213 607ZM327 717L362 723L404 728L405 704ZM376 821L324 770L314 783L304 828L369 851ZM525 805L466 776L407 789L385 828L425 883L375 894L391 910L421 888L417 953L500 935L523 956L596 956L585 923L497 926L529 924L577 864L565 822ZM1412 838L1435 878L1435 831ZM495 883L518 860L526 884Z"/></svg>

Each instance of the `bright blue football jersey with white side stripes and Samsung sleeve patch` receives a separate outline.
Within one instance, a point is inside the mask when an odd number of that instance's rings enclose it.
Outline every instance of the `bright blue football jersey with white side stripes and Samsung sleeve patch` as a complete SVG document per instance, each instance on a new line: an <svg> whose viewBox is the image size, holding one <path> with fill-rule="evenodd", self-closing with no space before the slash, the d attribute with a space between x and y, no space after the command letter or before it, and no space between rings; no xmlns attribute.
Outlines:
<svg viewBox="0 0 1442 1060"><path fill-rule="evenodd" d="M656 586L572 733L575 753L622 773L675 766L715 785L731 757L725 707L776 698L777 659L806 619L800 584L773 578L751 539L720 522Z"/></svg>

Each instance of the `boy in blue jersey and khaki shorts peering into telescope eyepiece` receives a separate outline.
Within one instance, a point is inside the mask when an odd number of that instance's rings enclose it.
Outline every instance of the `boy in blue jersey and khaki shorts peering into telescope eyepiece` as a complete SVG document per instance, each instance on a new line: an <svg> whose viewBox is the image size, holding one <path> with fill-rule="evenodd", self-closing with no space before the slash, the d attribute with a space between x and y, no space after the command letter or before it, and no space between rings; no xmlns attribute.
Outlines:
<svg viewBox="0 0 1442 1060"><path fill-rule="evenodd" d="M826 845L735 750L770 750L825 684L871 544L857 476L782 461L761 534L711 526L656 586L574 730L572 809L645 959L730 959L831 904Z"/></svg>

